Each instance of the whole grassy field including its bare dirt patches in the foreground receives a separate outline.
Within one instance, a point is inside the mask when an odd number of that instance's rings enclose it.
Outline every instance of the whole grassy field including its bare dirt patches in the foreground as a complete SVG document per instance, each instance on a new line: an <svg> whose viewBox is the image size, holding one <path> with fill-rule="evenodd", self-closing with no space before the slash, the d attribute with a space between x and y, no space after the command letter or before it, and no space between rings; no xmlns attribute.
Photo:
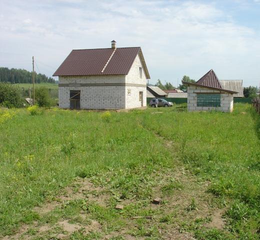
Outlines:
<svg viewBox="0 0 260 240"><path fill-rule="evenodd" d="M2 111L0 236L259 239L259 122L239 103Z"/></svg>

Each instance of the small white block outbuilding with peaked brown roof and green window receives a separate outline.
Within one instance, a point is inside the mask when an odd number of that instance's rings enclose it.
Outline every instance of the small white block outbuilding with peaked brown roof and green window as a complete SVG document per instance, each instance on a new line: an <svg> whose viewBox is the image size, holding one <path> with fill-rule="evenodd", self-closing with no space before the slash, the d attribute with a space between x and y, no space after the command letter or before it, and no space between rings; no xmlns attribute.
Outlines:
<svg viewBox="0 0 260 240"><path fill-rule="evenodd" d="M187 85L188 111L233 111L233 95L238 92L224 89L212 69L195 83L182 83Z"/></svg>

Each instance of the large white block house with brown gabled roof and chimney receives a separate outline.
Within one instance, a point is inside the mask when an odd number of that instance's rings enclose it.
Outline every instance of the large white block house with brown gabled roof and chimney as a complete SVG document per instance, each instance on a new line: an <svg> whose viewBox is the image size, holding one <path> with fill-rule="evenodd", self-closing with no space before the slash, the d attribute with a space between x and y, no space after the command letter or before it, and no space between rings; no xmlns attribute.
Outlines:
<svg viewBox="0 0 260 240"><path fill-rule="evenodd" d="M128 109L146 106L149 72L140 47L72 50L58 76L60 108Z"/></svg>

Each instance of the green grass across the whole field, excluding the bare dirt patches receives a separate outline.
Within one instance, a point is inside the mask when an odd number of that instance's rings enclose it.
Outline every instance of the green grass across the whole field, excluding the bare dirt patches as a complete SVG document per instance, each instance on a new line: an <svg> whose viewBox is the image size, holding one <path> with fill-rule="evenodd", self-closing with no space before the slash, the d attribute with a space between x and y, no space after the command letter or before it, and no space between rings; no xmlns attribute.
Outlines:
<svg viewBox="0 0 260 240"><path fill-rule="evenodd" d="M130 233L159 239L159 224L170 225L177 218L175 211L159 216L164 205L147 209L154 191L169 197L185 185L181 179L159 182L154 176L179 166L199 182L209 182L207 191L226 208L228 220L227 232L192 222L183 223L183 229L194 232L197 239L259 237L259 116L250 105L237 103L233 113L186 112L185 104L110 114L45 110L32 116L21 109L6 119L0 121L0 234L15 231L22 222L73 219L83 209L106 232L125 227L126 217L152 215L157 217L156 227L139 220ZM170 147L165 147L165 140ZM107 187L110 207L71 201L43 218L33 211L33 206L54 199L76 176ZM125 199L136 204L115 210L116 201ZM183 209L195 214L199 207L192 199ZM80 237L88 239L80 232L70 236ZM89 239L99 235L93 233Z"/></svg>

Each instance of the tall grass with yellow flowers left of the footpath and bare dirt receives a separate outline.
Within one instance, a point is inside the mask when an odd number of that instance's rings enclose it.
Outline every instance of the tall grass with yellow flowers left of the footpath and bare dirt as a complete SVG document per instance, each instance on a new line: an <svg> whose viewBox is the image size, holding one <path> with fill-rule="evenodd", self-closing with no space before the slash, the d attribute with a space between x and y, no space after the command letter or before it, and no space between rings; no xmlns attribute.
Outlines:
<svg viewBox="0 0 260 240"><path fill-rule="evenodd" d="M137 125L134 113L111 112L108 121L97 112L56 110L30 115L20 110L0 126L0 139L3 233L10 233L19 222L37 219L32 207L51 199L75 176L118 169L117 181L122 185L127 184L124 179L131 169L136 172L131 177L142 180L140 165L152 171L156 164L171 164L162 141Z"/></svg>

